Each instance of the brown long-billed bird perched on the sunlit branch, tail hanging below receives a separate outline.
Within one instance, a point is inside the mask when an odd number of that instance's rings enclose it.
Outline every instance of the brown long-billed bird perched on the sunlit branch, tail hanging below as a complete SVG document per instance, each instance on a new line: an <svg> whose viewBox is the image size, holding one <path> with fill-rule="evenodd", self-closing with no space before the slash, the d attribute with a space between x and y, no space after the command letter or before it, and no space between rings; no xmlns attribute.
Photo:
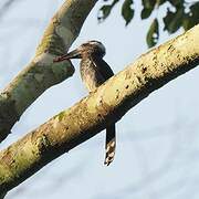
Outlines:
<svg viewBox="0 0 199 199"><path fill-rule="evenodd" d="M103 60L106 54L105 46L100 41L87 41L77 49L57 56L54 62L64 60L81 59L80 72L83 83L88 92L94 92L100 85L114 75L111 66ZM104 165L108 166L115 157L116 150L116 127L115 124L106 126L105 159Z"/></svg>

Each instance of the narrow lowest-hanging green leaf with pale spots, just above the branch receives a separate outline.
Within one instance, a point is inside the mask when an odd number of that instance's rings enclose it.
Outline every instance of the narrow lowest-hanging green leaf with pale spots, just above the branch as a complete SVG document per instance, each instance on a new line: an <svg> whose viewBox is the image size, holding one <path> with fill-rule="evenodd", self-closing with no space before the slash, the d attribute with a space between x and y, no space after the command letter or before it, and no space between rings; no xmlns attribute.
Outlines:
<svg viewBox="0 0 199 199"><path fill-rule="evenodd" d="M148 48L151 48L151 46L156 45L156 43L158 42L158 39L159 39L159 23L158 23L157 18L154 19L153 23L150 24L150 28L148 30L146 39L147 39Z"/></svg>

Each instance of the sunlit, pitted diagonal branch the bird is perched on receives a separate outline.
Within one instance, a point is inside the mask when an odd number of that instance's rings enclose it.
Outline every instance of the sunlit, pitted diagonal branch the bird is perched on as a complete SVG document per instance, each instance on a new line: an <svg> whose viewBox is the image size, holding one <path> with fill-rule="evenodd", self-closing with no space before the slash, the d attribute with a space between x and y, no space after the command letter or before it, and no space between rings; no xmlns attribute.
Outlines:
<svg viewBox="0 0 199 199"><path fill-rule="evenodd" d="M199 25L149 51L90 96L0 153L0 190L115 123L153 91L199 64Z"/></svg>

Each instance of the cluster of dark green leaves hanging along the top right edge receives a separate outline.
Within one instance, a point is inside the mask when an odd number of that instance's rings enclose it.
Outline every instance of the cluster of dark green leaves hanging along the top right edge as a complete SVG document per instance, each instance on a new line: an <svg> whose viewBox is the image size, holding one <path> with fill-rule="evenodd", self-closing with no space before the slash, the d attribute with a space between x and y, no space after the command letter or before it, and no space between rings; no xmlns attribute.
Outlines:
<svg viewBox="0 0 199 199"><path fill-rule="evenodd" d="M109 3L112 2L112 3ZM104 0L104 6L100 9L98 20L104 21L111 13L118 0ZM165 15L157 18L159 8L167 8ZM156 12L155 12L156 11ZM186 0L142 0L140 19L151 18L153 22L148 29L146 42L149 48L157 44L159 39L159 22L163 20L163 30L169 34L175 33L180 28L185 31L199 23L199 1L186 2ZM153 14L155 12L155 14ZM133 0L123 0L122 17L128 25L134 18L135 9ZM154 18L154 15L156 15Z"/></svg>

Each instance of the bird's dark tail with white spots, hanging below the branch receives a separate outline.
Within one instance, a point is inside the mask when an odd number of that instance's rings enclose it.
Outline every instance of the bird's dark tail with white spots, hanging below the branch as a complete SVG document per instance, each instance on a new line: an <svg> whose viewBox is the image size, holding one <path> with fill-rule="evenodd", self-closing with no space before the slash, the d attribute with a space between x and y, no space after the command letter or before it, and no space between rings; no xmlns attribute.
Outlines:
<svg viewBox="0 0 199 199"><path fill-rule="evenodd" d="M115 124L106 127L106 157L104 165L108 166L115 157L116 148L116 135L115 135Z"/></svg>

